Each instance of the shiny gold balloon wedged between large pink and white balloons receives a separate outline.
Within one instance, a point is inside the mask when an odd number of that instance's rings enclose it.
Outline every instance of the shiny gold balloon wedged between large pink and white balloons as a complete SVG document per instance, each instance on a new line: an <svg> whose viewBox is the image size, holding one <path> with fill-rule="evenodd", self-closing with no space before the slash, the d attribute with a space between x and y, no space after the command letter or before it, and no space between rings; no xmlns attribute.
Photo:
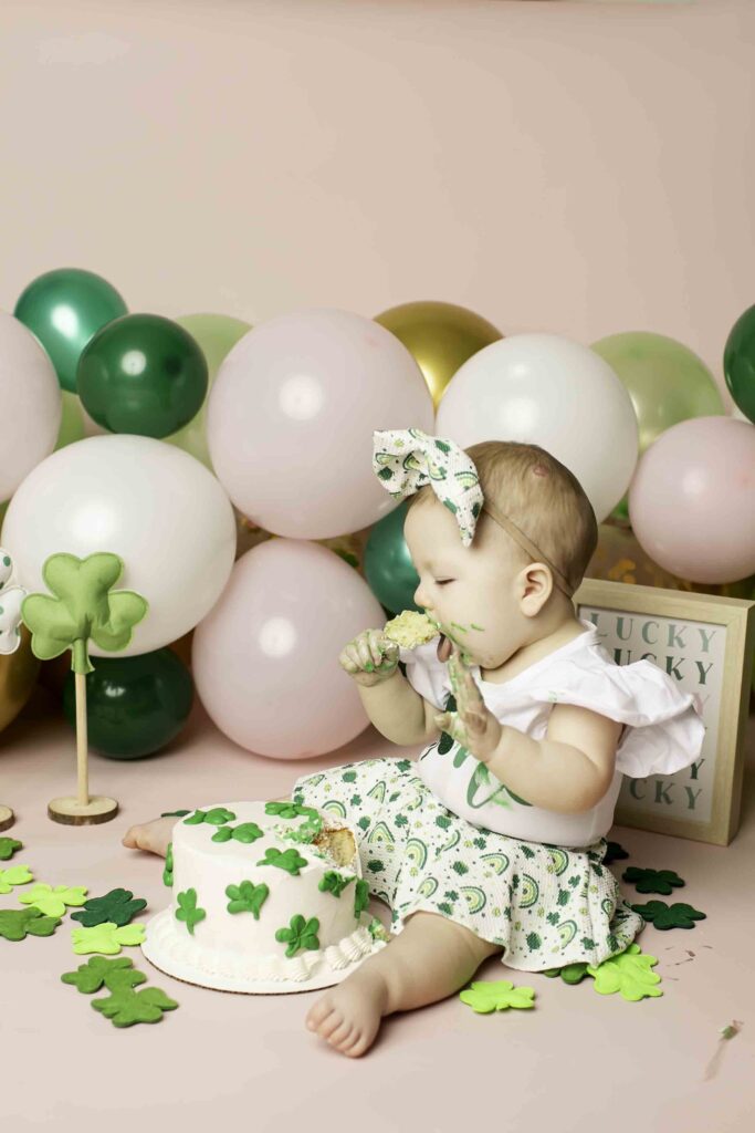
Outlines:
<svg viewBox="0 0 755 1133"><path fill-rule="evenodd" d="M376 315L375 322L414 356L436 409L460 366L504 337L487 318L454 303L403 303Z"/></svg>

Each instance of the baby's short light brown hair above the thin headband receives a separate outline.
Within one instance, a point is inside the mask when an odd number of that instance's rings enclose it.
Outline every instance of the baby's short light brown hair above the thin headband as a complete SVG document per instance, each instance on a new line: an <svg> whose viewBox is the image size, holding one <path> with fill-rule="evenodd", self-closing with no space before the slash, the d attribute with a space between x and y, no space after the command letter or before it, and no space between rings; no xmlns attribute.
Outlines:
<svg viewBox="0 0 755 1133"><path fill-rule="evenodd" d="M492 500L576 590L598 545L595 513L576 476L538 444L481 441L465 452L484 499ZM409 497L407 508L429 496L435 493L426 484ZM495 523L484 512L482 520ZM529 561L524 551L521 554Z"/></svg>

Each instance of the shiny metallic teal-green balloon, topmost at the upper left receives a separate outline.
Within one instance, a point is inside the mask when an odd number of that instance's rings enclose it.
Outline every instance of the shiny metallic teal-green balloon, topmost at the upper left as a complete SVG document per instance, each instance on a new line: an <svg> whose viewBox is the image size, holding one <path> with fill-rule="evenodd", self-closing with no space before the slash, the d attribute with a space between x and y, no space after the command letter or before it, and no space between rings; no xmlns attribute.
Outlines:
<svg viewBox="0 0 755 1133"><path fill-rule="evenodd" d="M58 267L28 284L14 315L48 351L63 390L76 393L76 368L85 346L127 310L122 297L101 275Z"/></svg>

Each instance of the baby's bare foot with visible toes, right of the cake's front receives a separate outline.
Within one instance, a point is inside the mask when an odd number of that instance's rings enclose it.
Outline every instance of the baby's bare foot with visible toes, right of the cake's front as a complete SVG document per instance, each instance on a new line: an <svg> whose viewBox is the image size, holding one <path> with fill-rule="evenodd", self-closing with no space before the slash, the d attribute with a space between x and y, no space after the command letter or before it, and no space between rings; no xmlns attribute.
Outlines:
<svg viewBox="0 0 755 1133"><path fill-rule="evenodd" d="M372 1046L388 1003L388 988L369 965L328 988L307 1015L307 1026L350 1058Z"/></svg>

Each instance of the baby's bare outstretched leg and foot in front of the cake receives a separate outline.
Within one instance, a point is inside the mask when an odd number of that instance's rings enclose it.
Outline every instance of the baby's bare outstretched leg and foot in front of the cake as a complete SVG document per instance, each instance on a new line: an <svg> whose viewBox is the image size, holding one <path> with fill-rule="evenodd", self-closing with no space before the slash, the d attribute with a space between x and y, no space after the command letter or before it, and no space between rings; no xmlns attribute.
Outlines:
<svg viewBox="0 0 755 1133"><path fill-rule="evenodd" d="M320 996L307 1026L358 1058L375 1041L384 1015L413 1011L453 995L483 960L503 952L440 913L415 912L385 948Z"/></svg>

